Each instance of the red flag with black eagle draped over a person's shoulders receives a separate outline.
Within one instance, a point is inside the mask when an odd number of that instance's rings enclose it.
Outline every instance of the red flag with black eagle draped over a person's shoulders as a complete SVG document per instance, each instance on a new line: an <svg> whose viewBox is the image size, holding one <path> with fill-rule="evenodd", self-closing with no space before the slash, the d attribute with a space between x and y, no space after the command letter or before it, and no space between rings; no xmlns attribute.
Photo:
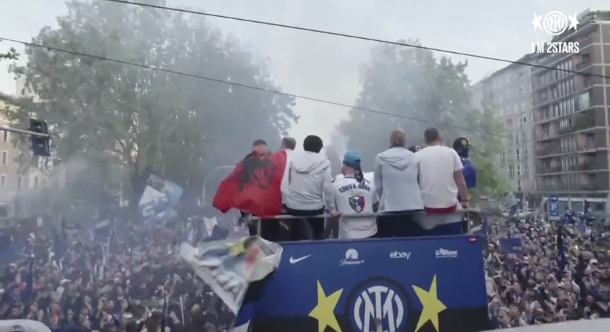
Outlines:
<svg viewBox="0 0 610 332"><path fill-rule="evenodd" d="M216 191L213 206L222 213L239 209L253 216L282 213L282 180L287 177L285 151L252 152L241 160Z"/></svg>

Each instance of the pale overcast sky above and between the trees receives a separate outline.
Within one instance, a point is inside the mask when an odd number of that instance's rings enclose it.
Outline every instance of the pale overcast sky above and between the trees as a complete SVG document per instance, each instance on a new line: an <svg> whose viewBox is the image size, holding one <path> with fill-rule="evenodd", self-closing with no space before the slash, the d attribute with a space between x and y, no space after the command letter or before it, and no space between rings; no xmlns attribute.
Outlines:
<svg viewBox="0 0 610 332"><path fill-rule="evenodd" d="M55 17L66 13L64 0L1 2L0 37L23 41L30 41L45 25L55 26ZM168 0L167 6L378 39L417 38L428 47L510 60L530 51L532 42L549 39L544 32L534 32L534 12L610 9L608 0ZM359 66L367 61L371 42L218 18L209 21L270 59L274 78L286 92L345 104L357 99ZM10 47L23 51L19 44L1 42L0 52ZM476 82L503 66L469 59L467 73ZM14 94L15 82L6 69L6 63L0 64L0 92ZM348 109L297 100L296 111L301 120L291 134L301 142L310 134L328 140Z"/></svg>

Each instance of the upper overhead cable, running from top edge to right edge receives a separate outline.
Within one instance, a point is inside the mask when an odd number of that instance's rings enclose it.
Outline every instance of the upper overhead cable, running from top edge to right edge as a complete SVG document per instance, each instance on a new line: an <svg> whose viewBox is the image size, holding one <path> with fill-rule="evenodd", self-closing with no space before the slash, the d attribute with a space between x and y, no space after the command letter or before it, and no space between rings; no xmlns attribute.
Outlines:
<svg viewBox="0 0 610 332"><path fill-rule="evenodd" d="M189 13L189 14L194 14L194 15L209 16L209 17L213 17L213 18L223 18L226 20L237 20L237 21L241 21L241 22L269 25L269 26L273 26L273 27L282 27L285 29L313 32L313 33L318 33L318 34L322 34L322 35L331 35L331 36L336 36L336 37L360 39L360 40L364 40L366 42L378 42L378 43L391 44L391 45L400 46L400 47L411 47L414 49L426 49L428 51L437 51L437 52L446 53L446 54L455 54L455 55L467 56L467 57L476 58L476 59L484 59L484 60L498 61L498 62L504 62L504 63L510 63L510 64L518 64L518 65L530 66L530 67L534 67L534 68L557 70L557 71L563 71L565 73L573 73L573 74L578 74L578 75L587 75L587 76L599 77L599 78L610 78L610 76L608 76L608 75L599 75L599 74L594 74L594 73L582 73L582 72L576 71L576 70L554 68L554 67L550 67L550 66L539 65L537 63L513 61L513 60L508 60L508 59L496 58L494 56L484 56L481 54L453 51L450 49L439 49L437 47L426 47L426 46L421 46L421 45L417 45L417 44L393 42L391 40L385 40L385 39L377 39L377 38L364 37L364 36L358 36L358 35L349 35L347 33L319 30L319 29L313 29L311 27L298 27L296 25L273 23L273 22L267 22L267 21L263 21L263 20L252 20L249 18L239 18L237 16L227 16L227 15L220 15L220 14L214 14L214 13L205 13L203 11L193 11L193 10L177 8L177 7L160 6L160 5L154 5L154 4L143 4L141 2L136 2L136 1L126 1L126 0L104 0L104 1L114 2L116 4L126 4L126 5L133 5L133 6L143 6L143 7L148 7L148 8L162 9L165 11L177 11L180 13Z"/></svg>

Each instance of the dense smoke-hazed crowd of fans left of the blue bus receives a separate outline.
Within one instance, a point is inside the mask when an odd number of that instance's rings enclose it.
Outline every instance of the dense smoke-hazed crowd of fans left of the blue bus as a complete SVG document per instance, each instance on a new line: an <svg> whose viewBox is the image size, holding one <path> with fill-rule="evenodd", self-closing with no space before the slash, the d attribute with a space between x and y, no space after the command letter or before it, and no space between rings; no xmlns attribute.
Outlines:
<svg viewBox="0 0 610 332"><path fill-rule="evenodd" d="M3 247L18 257L0 265L1 319L70 332L229 331L234 314L177 258L180 229L42 229L13 228L13 248Z"/></svg>

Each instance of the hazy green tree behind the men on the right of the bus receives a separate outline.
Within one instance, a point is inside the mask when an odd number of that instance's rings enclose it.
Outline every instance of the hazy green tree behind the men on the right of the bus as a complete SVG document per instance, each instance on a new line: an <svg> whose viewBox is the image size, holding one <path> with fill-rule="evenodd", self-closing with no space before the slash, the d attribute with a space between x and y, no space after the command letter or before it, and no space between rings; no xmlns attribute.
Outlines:
<svg viewBox="0 0 610 332"><path fill-rule="evenodd" d="M362 154L364 171L371 171L376 154L388 148L391 130L404 130L409 145L423 145L424 130L433 127L441 131L445 144L460 136L470 140L472 159L479 168L479 192L503 190L494 166L501 138L490 135L501 133L501 126L491 110L472 109L466 67L466 62L454 63L445 56L436 59L424 49L373 48L370 62L361 70L357 106L397 116L352 109L338 128L349 148Z"/></svg>

